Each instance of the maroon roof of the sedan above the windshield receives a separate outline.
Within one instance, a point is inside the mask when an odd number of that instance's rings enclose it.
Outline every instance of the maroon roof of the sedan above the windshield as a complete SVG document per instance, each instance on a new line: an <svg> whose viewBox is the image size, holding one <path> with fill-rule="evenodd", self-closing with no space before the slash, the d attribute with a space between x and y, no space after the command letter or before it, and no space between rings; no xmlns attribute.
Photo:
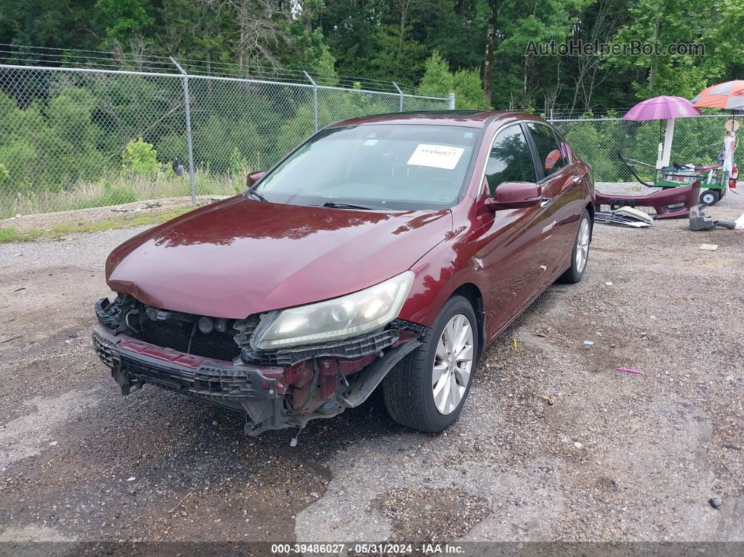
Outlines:
<svg viewBox="0 0 744 557"><path fill-rule="evenodd" d="M523 112L498 110L427 110L419 112L393 112L361 116L336 122L330 127L359 126L368 123L420 123L439 126L468 126L483 128L493 120L517 118L525 120L540 120L538 116Z"/></svg>

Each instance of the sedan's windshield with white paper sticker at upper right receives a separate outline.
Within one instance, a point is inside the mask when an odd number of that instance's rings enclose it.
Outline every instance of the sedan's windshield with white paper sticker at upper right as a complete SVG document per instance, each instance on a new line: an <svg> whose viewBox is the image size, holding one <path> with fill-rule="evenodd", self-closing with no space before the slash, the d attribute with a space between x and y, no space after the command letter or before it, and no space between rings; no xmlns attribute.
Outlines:
<svg viewBox="0 0 744 557"><path fill-rule="evenodd" d="M376 124L326 129L254 191L292 205L436 209L458 199L478 130Z"/></svg>

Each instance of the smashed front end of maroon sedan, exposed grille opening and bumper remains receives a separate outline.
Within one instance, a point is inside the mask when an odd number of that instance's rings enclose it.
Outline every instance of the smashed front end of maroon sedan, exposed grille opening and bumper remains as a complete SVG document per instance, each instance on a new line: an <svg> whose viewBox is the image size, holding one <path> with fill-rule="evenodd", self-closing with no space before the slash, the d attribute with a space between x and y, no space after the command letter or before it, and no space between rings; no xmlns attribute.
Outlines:
<svg viewBox="0 0 744 557"><path fill-rule="evenodd" d="M308 319L322 322L325 310L316 306L320 310L313 309ZM374 311L369 305L362 309ZM396 316L398 311L400 304ZM150 383L242 411L251 436L303 428L311 419L361 405L426 332L425 326L398 318L371 321L372 330L355 329L344 315L340 321L347 329L362 332L347 338L324 333L329 340L297 344L282 340L283 331L298 323L296 313L215 318L149 306L130 294L99 300L95 312L95 351L124 395ZM328 315L337 319L336 314Z"/></svg>

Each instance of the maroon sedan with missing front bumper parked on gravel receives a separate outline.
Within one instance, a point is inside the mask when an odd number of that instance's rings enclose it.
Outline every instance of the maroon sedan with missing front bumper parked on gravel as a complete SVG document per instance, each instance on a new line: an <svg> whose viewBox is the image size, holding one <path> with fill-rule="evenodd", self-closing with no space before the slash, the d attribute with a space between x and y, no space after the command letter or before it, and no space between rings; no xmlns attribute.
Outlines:
<svg viewBox="0 0 744 557"><path fill-rule="evenodd" d="M538 117L418 112L313 135L241 196L112 251L95 349L150 383L303 428L382 384L392 418L457 419L484 347L586 271L590 168Z"/></svg>

